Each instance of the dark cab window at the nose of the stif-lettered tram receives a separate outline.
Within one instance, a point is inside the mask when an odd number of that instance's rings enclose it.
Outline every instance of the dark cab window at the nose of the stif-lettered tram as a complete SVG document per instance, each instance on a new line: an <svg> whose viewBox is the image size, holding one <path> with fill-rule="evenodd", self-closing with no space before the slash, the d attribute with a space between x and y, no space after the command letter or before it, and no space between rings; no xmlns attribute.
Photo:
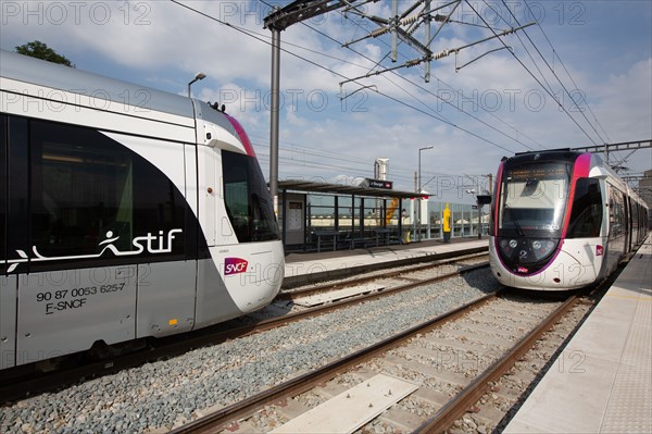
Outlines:
<svg viewBox="0 0 652 434"><path fill-rule="evenodd" d="M265 178L254 158L222 151L224 200L238 241L278 239Z"/></svg>

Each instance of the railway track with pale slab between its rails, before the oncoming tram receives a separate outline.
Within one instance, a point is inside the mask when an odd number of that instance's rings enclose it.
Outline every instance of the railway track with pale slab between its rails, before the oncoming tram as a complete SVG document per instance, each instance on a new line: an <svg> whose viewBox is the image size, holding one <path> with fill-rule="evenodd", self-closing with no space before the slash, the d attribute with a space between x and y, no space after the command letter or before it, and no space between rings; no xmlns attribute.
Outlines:
<svg viewBox="0 0 652 434"><path fill-rule="evenodd" d="M174 432L472 431L465 413L498 396L500 377L577 300L491 294ZM486 419L485 430L498 423Z"/></svg>

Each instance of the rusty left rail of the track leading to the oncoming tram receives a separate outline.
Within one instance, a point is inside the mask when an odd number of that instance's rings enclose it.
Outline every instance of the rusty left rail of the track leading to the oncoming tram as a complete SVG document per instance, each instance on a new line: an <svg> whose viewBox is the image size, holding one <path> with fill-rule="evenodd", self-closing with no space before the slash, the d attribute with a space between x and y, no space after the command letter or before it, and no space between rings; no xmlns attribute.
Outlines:
<svg viewBox="0 0 652 434"><path fill-rule="evenodd" d="M197 419L184 426L171 431L171 434L190 434L190 433L208 433L216 432L226 427L235 420L247 418L255 411L262 409L265 405L275 401L280 401L291 396L299 395L315 384L326 382L340 372L347 371L356 364L360 364L368 359L376 357L378 354L388 351L391 348L402 345L405 340L428 332L431 328L440 326L446 322L455 320L469 311L477 309L488 301L498 297L499 293L491 293L476 300L469 301L459 308L455 308L447 313L440 314L419 325L411 327L404 332L398 333L387 339L384 339L369 347L358 350L347 357L333 361L315 371L299 375L283 384L263 390L254 396L246 398L241 401L224 407L211 414Z"/></svg>

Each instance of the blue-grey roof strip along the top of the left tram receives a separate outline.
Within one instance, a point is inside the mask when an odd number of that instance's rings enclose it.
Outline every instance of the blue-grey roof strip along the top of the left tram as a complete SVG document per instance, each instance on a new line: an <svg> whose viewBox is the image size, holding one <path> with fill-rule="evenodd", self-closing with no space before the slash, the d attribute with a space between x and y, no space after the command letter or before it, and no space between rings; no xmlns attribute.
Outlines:
<svg viewBox="0 0 652 434"><path fill-rule="evenodd" d="M143 110L195 117L190 98L7 50L0 50L0 77L130 103ZM143 95L143 90L147 94Z"/></svg>

